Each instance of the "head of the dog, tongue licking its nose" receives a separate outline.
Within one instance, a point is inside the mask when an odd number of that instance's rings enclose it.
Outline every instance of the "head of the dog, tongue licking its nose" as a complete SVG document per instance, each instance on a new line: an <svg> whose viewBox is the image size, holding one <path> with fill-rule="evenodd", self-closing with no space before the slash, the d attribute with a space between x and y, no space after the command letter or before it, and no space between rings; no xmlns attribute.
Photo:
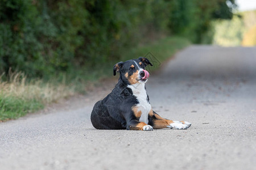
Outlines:
<svg viewBox="0 0 256 170"><path fill-rule="evenodd" d="M145 70L147 65L153 66L147 58L130 59L115 64L113 73L116 75L119 72L121 79L127 81L128 84L145 83L149 76L148 71Z"/></svg>

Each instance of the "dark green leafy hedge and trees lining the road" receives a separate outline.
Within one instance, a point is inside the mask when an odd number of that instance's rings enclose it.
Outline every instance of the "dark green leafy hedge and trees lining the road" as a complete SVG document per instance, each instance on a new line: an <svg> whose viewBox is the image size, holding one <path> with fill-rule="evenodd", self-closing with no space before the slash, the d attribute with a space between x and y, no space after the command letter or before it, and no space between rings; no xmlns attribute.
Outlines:
<svg viewBox="0 0 256 170"><path fill-rule="evenodd" d="M230 18L231 8L225 0L1 0L0 73L73 75L170 32L209 43L211 21Z"/></svg>

